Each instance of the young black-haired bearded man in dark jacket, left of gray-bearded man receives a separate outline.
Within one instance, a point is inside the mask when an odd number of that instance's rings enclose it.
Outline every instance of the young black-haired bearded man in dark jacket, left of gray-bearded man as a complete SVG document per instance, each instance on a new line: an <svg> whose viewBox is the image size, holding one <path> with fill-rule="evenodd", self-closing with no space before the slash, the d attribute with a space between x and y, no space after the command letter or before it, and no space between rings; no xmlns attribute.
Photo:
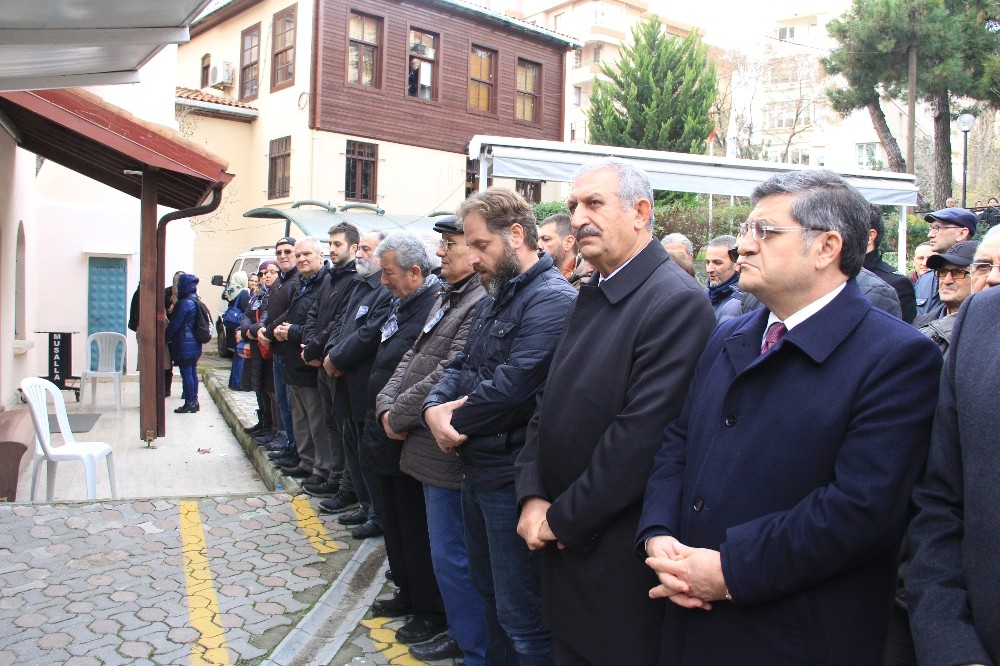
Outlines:
<svg viewBox="0 0 1000 666"><path fill-rule="evenodd" d="M361 278L354 268L360 234L349 222L330 227L330 276L319 285L316 302L309 310L302 330L302 360L316 368L316 387L322 403L322 415L330 436L316 442L316 465L313 478L302 483L302 490L313 497L333 497L344 477L343 419L333 415L336 377L323 370L323 349L333 327L347 307L347 299ZM350 474L347 483L350 483ZM353 491L353 486L351 486Z"/></svg>

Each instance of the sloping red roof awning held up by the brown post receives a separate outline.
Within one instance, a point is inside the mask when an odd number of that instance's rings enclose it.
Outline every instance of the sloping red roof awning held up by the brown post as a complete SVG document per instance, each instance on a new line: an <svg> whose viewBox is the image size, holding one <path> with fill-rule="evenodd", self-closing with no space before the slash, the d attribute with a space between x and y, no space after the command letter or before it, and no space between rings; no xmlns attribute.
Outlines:
<svg viewBox="0 0 1000 666"><path fill-rule="evenodd" d="M142 175L128 172L159 171L168 208L197 206L233 178L222 158L85 90L0 93L0 123L25 150L136 198Z"/></svg>

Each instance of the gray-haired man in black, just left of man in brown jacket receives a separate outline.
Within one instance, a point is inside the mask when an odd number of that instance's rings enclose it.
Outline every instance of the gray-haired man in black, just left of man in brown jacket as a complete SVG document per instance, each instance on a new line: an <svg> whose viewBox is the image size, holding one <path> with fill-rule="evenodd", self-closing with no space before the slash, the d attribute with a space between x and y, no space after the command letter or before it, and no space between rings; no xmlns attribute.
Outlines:
<svg viewBox="0 0 1000 666"><path fill-rule="evenodd" d="M444 604L431 564L423 487L400 471L402 447L389 438L376 417L375 397L420 334L441 283L430 272L430 257L423 242L411 233L389 236L379 243L375 257L382 267L382 286L392 296L368 378L361 464L377 475L376 486L382 496L385 550L392 580L398 588L396 595L387 601L399 608L409 607L413 614L396 631L396 640L420 643L438 635L446 626Z"/></svg>

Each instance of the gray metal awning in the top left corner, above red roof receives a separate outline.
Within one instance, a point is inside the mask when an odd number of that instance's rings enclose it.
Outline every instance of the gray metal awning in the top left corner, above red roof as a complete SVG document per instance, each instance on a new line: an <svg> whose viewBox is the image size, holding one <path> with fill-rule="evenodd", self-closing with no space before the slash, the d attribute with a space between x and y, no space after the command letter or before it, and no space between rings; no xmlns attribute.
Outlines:
<svg viewBox="0 0 1000 666"><path fill-rule="evenodd" d="M0 0L0 90L136 83L210 0Z"/></svg>

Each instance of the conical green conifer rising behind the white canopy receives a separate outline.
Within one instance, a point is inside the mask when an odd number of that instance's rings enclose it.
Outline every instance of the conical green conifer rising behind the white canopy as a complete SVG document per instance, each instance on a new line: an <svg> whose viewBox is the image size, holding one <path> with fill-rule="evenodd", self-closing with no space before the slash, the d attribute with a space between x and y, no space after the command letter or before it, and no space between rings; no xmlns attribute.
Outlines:
<svg viewBox="0 0 1000 666"><path fill-rule="evenodd" d="M667 34L651 16L632 28L617 67L602 64L588 115L594 144L704 154L714 124L715 64L692 32Z"/></svg>

